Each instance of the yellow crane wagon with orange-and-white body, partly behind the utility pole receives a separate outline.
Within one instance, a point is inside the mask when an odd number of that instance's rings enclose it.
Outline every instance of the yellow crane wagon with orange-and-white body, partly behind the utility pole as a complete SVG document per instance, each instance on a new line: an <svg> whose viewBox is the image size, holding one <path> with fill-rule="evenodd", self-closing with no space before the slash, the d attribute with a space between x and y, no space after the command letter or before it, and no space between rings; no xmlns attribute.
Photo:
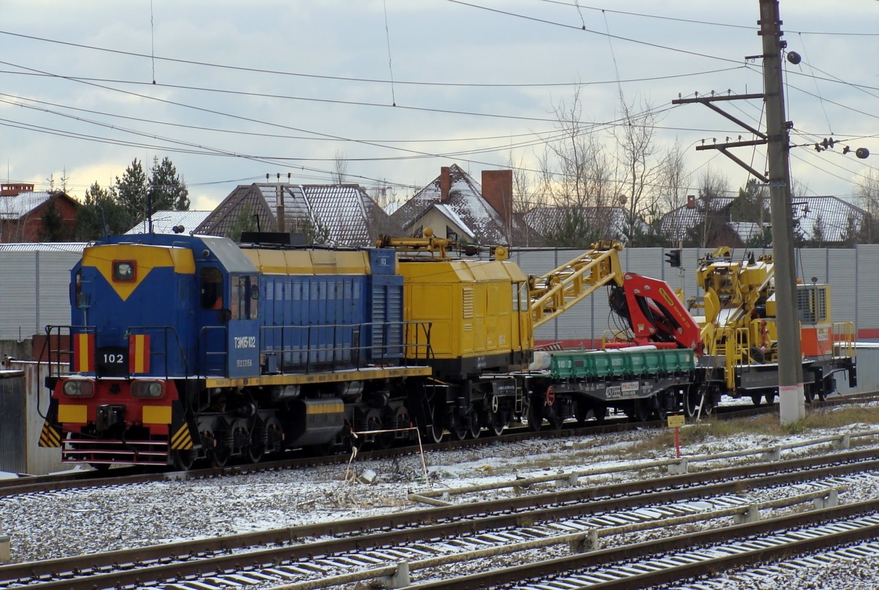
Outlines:
<svg viewBox="0 0 879 590"><path fill-rule="evenodd" d="M716 248L699 261L696 283L701 298L689 309L701 327L703 386L733 397L750 396L754 404L772 403L778 393L778 335L775 326L772 255L753 253L734 259L730 248ZM836 388L837 373L857 382L854 324L833 322L830 286L797 284L807 401L825 399Z"/></svg>

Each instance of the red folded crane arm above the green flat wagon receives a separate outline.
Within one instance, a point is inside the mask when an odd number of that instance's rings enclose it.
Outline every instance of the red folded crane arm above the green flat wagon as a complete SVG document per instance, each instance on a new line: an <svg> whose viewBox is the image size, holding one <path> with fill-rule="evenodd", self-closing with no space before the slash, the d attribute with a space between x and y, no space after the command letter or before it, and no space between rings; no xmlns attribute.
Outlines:
<svg viewBox="0 0 879 590"><path fill-rule="evenodd" d="M627 272L611 291L610 306L631 327L635 344L694 349L701 354L701 329L665 281Z"/></svg>

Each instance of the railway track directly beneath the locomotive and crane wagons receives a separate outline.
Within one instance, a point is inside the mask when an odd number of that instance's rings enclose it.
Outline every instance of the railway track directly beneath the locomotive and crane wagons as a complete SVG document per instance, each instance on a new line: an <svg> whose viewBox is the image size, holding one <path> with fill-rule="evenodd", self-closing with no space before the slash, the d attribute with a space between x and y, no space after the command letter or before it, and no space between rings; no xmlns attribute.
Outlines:
<svg viewBox="0 0 879 590"><path fill-rule="evenodd" d="M825 401L815 400L813 407L832 407L844 404L866 403L879 399L879 392L859 393L853 395L837 396ZM722 406L716 408L714 416L720 420L745 418L760 414L768 414L778 411L777 404L761 405L759 407L746 407L742 405ZM665 428L663 421L631 422L625 418L608 418L604 424L592 423L587 426L575 423L565 424L561 429L544 428L534 432L525 427L512 428L502 436L483 435L475 439L462 441L445 441L443 443L425 444L425 451L461 450L488 446L496 443L516 443L534 438L562 438L572 435L599 435L612 432L626 432L638 428ZM485 433L483 433L485 434ZM381 459L397 457L401 454L418 452L418 445L405 448L392 448L388 450L361 450L360 458ZM190 479L190 478L215 478L229 475L240 475L257 471L277 471L286 469L301 469L316 465L345 464L349 456L345 454L330 455L326 457L302 457L292 453L293 457L282 458L273 461L265 461L258 464L229 465L226 467L208 467L191 471L146 471L139 467L127 467L114 469L111 473L100 471L67 471L64 473L23 476L20 478L0 479L0 497L13 496L29 493L48 493L60 490L119 486L127 484L139 484L166 479Z"/></svg>

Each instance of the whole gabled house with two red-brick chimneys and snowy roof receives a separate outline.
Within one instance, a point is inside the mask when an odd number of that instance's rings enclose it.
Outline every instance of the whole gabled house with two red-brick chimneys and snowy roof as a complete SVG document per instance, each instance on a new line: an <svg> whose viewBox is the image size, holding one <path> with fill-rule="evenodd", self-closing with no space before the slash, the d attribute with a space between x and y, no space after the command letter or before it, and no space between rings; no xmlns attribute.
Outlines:
<svg viewBox="0 0 879 590"><path fill-rule="evenodd" d="M406 201L392 215L404 235L433 235L479 244L542 246L512 206L512 170L483 170L477 183L457 164L439 169L432 183Z"/></svg>

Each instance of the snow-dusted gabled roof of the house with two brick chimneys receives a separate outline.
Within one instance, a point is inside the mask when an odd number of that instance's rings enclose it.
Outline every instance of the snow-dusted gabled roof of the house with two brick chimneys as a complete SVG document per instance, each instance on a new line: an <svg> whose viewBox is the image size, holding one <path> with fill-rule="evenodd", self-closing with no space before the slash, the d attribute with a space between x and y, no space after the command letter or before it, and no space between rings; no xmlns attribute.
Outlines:
<svg viewBox="0 0 879 590"><path fill-rule="evenodd" d="M425 188L406 201L403 206L391 215L403 227L405 234L410 234L412 227L424 217L433 205L446 205L449 210L461 219L475 236L476 241L483 244L515 244L539 245L541 238L527 226L521 216L513 214L509 226L500 213L483 198L483 188L457 164L448 167L451 184L448 200L444 203L437 176Z"/></svg>

